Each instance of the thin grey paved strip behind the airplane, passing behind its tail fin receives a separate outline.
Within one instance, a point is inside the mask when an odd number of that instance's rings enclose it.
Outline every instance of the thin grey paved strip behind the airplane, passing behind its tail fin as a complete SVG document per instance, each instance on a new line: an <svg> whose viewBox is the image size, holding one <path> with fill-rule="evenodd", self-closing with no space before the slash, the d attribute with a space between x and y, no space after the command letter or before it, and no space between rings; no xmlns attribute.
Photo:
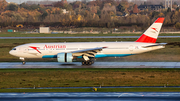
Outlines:
<svg viewBox="0 0 180 101"><path fill-rule="evenodd" d="M79 36L79 37L0 37L0 39L83 39L83 38L139 38L140 36ZM180 38L180 36L159 36L158 38Z"/></svg>

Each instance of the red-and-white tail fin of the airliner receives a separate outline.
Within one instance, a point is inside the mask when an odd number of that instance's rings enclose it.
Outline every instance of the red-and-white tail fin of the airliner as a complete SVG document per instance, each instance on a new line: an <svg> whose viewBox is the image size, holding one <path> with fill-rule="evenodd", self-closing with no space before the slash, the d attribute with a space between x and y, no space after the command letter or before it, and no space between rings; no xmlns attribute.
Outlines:
<svg viewBox="0 0 180 101"><path fill-rule="evenodd" d="M156 43L164 18L158 18L136 42Z"/></svg>

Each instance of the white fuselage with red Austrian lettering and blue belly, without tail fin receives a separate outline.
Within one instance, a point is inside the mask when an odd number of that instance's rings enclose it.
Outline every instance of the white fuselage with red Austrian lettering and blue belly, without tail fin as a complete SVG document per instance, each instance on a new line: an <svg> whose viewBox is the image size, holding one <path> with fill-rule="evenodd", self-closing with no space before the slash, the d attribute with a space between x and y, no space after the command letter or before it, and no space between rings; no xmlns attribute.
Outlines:
<svg viewBox="0 0 180 101"><path fill-rule="evenodd" d="M123 57L156 49L164 46L154 46L157 43L141 42L69 42L69 43L30 43L15 47L10 54L21 58L57 58L58 53L69 53L77 50L96 47L107 47L96 54L101 57ZM36 47L36 48L32 48Z"/></svg>

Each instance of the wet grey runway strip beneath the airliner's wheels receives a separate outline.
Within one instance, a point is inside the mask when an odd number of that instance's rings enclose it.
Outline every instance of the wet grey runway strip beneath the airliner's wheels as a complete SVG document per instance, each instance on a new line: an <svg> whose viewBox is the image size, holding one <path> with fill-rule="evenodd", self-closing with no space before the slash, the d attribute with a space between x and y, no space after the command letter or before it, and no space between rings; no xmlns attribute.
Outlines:
<svg viewBox="0 0 180 101"><path fill-rule="evenodd" d="M58 62L1 62L0 68L180 68L180 62L95 62L82 66L81 62L62 64Z"/></svg>

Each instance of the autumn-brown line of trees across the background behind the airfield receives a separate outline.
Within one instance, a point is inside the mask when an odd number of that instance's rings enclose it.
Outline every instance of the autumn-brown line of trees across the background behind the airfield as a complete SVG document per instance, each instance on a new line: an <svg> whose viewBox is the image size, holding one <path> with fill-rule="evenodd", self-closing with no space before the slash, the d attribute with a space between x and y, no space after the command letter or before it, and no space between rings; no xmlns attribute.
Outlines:
<svg viewBox="0 0 180 101"><path fill-rule="evenodd" d="M174 3L173 10L138 10L127 0L96 0L72 3L55 2L51 5L14 4L0 1L0 26L52 27L107 27L140 26L146 28L158 17L165 17L164 26L180 29L180 10ZM113 8L113 9L112 9Z"/></svg>

